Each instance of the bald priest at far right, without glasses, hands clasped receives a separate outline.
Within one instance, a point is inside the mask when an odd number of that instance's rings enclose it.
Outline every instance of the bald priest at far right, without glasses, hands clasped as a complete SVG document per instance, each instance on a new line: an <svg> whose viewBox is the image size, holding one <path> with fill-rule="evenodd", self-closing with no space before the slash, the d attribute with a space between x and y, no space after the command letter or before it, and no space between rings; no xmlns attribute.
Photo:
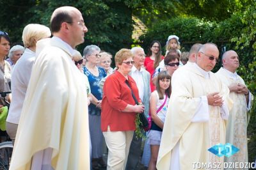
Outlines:
<svg viewBox="0 0 256 170"><path fill-rule="evenodd" d="M239 151L225 162L248 162L247 150L247 111L251 108L253 95L250 93L244 80L237 75L239 57L234 50L228 50L222 56L223 68L216 75L230 90L229 97L233 100L227 123L226 143L233 144Z"/></svg>

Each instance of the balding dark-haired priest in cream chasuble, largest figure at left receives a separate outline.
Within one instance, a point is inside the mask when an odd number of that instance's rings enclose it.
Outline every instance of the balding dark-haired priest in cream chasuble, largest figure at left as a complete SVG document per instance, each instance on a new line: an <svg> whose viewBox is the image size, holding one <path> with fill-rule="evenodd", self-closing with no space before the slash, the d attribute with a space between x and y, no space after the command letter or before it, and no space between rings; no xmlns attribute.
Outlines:
<svg viewBox="0 0 256 170"><path fill-rule="evenodd" d="M87 32L81 12L57 8L51 31L36 43L10 169L90 169L86 82L72 61Z"/></svg>

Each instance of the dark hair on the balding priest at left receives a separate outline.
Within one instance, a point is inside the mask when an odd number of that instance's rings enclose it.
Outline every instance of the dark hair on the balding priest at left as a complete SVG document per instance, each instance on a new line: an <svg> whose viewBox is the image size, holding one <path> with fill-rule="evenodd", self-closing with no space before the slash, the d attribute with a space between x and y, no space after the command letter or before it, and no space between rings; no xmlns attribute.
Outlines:
<svg viewBox="0 0 256 170"><path fill-rule="evenodd" d="M72 23L73 19L67 11L60 11L56 13L54 17L51 19L51 31L52 33L56 33L60 31L61 24L63 22Z"/></svg>

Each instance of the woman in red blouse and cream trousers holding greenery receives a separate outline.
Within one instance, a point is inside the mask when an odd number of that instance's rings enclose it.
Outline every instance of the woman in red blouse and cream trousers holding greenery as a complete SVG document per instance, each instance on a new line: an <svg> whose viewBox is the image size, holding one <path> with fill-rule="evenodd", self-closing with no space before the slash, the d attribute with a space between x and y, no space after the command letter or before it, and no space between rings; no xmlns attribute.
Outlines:
<svg viewBox="0 0 256 170"><path fill-rule="evenodd" d="M109 149L108 169L125 169L137 113L144 111L143 105L136 105L134 97L140 102L136 82L128 75L134 61L129 49L116 53L117 70L108 76L104 84L102 99L101 129Z"/></svg>

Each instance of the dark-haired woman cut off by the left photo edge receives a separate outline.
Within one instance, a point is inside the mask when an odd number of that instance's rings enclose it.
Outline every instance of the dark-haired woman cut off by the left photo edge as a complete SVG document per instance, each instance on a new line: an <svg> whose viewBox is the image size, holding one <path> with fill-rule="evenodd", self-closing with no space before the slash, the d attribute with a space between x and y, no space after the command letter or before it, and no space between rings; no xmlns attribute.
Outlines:
<svg viewBox="0 0 256 170"><path fill-rule="evenodd" d="M11 66L4 60L10 50L10 38L8 33L0 31L0 92L10 91ZM6 97L8 100L8 96ZM5 105L4 98L0 96L0 107Z"/></svg>

